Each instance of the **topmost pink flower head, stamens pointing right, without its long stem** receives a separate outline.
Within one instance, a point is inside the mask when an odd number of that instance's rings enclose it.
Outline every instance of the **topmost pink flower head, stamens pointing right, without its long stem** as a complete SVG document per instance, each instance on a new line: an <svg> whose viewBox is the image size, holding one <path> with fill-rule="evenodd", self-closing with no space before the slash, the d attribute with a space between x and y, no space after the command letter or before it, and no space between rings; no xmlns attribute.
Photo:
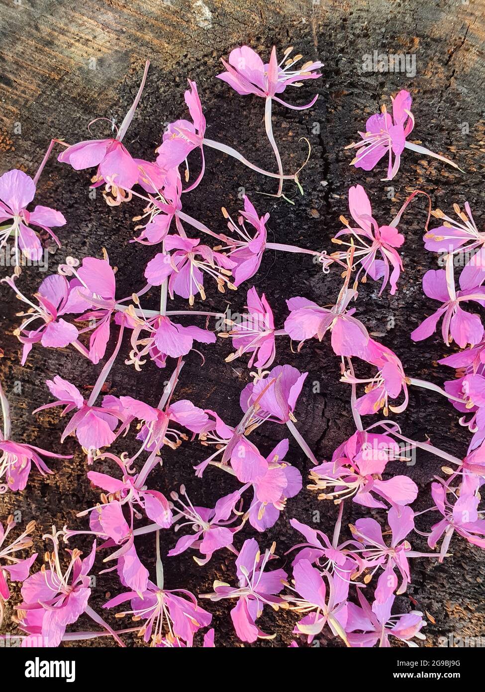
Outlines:
<svg viewBox="0 0 485 692"><path fill-rule="evenodd" d="M314 70L322 67L321 62L306 62L300 69L291 69L301 60L302 55L296 55L293 60L290 58L292 48L284 51L283 60L278 64L276 48L273 46L271 57L268 64L264 64L259 55L249 46L235 48L229 55L229 62L222 60L226 72L217 75L220 80L227 82L237 93L246 95L253 93L262 98L271 97L278 103L291 109L305 109L313 106L318 95L306 106L293 106L282 101L277 97L277 93L282 93L286 86L301 86L304 80L314 80L320 77L320 73ZM284 66L283 66L283 63Z"/></svg>

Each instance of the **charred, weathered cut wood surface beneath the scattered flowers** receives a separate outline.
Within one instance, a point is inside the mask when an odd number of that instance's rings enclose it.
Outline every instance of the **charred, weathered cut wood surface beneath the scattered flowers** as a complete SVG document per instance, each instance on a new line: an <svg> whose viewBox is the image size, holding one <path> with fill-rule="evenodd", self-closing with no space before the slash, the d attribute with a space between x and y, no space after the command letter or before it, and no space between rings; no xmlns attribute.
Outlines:
<svg viewBox="0 0 485 692"><path fill-rule="evenodd" d="M484 3L476 0L321 0L313 5L261 0L173 0L170 4L155 0L80 0L74 5L66 0L21 0L17 5L12 0L1 0L1 171L22 167L33 174L51 137L62 137L68 142L85 138L89 121L97 116L120 122L138 88L147 57L152 60L147 88L126 141L134 154L150 158L161 140L165 122L183 116L185 78L190 77L199 85L208 136L236 145L260 165L274 167L264 137L262 101L239 97L226 84L215 80L214 75L220 71L219 57L238 44L248 43L264 54L273 44L280 49L291 44L305 56L324 62L322 79L305 86L298 97L303 103L318 91L320 98L315 107L302 112L276 107L274 113L275 136L281 143L286 168L293 169L304 156L298 138L305 136L311 141L311 161L302 175L304 197L295 194L294 207L262 197L256 192L273 189L268 181L208 152L203 184L184 197L187 212L221 230L220 207L237 210L239 188L244 187L261 210L271 212L269 227L275 239L309 248L328 248L329 239L338 229L339 215L347 213L347 189L361 183L381 222L391 219L408 193L418 187L429 192L434 206L443 210L451 210L453 203L462 205L468 199L477 224L483 227L483 14ZM414 55L416 75L363 72L365 55L374 50ZM95 69L90 69L93 66ZM414 96L417 125L413 136L434 151L455 158L466 174L405 152L401 171L392 183L393 194L389 188L385 190L387 183L380 180L382 168L370 174L356 172L349 167L352 154L345 152L344 147L362 129L369 113L377 111L383 102L389 103L390 95L403 87ZM15 123L21 124L21 134L15 134ZM102 133L104 125L97 123L95 131ZM138 205L109 209L101 195L89 199L88 184L88 173L77 174L55 158L46 167L39 183L38 201L62 210L68 219L60 233L63 247L51 255L49 270L55 271L57 262L66 255L82 258L99 254L105 247L118 266L119 295L127 295L133 286L140 285L143 267L152 255L150 248L129 244L134 226L131 217L138 212ZM378 298L376 286L369 282L361 291L358 314L363 316L369 331L383 334L378 339L396 349L410 375L442 383L451 373L436 363L443 356L439 338L419 345L409 338L410 331L432 309L432 302L423 298L421 290L423 273L436 267L435 257L423 249L424 221L425 201L420 198L401 224L406 237L401 289L394 298L387 292ZM19 285L34 291L42 277L36 271L24 271ZM292 255L273 257L267 253L255 285L265 291L281 325L286 315L285 298L306 295L326 304L336 296L338 277L322 277L311 262L300 257L295 261ZM221 297L209 290L206 304L220 309L228 302L237 311L244 306L245 297L244 291ZM157 296L153 295L151 300L155 306ZM64 421L57 420L55 411L35 417L30 411L49 400L44 385L48 377L61 374L89 385L100 367L90 365L75 352L46 351L40 347L34 348L27 365L21 367L19 344L12 335L18 324L16 309L16 301L4 287L0 313L5 331L1 346L6 358L1 366L15 417L15 434L19 439L61 451L59 437ZM128 345L125 353L127 349ZM178 395L217 410L228 423L235 424L240 415L239 391L248 381L248 370L239 361L224 363L223 356L229 352L227 342L204 347L203 351L204 367L196 354L187 358ZM307 385L296 412L298 426L315 453L328 458L352 432L348 386L338 383L338 363L328 343L308 343L300 354L281 344L276 363L291 363L300 370L308 370ZM155 403L167 372L147 364L143 372L135 374L130 367L120 365L113 370L109 388L113 394L131 394ZM15 390L15 382L21 383L20 393ZM320 393L313 393L312 383L319 383ZM466 451L468 431L460 428L455 411L437 395L413 391L410 406L399 422L410 437L425 439L429 435L451 453L464 455ZM268 425L254 439L269 452L284 433L280 426ZM48 480L42 480L33 471L26 491L0 498L0 517L5 518L13 509L21 510L25 521L37 520L37 538L52 523L57 527L84 526L84 520L77 519L75 514L92 505L97 493L86 481L84 459L72 439L64 443L64 451L75 454L73 461L53 464L55 475ZM176 453L167 453L163 470L154 475L159 488L168 493L184 482L194 502L210 506L232 485L226 474L217 470L209 471L203 482L194 479L192 465L203 455L204 449L196 442L184 444ZM293 444L291 461L305 477L309 464ZM419 484L419 509L431 504L430 480L439 466L432 457L419 454L417 465L406 470ZM398 468L401 467L395 464L392 471ZM275 539L278 552L284 554L295 543L289 517L311 523L317 510L320 524L315 526L330 530L335 507L318 502L314 494L304 489L298 498L288 502L277 525L259 537L262 544L269 545ZM345 522L358 516L360 510L356 505L346 507ZM247 527L239 534L238 542L254 533ZM172 532L164 534L163 549L170 549L174 540ZM83 545L86 547L87 543ZM416 545L424 544L418 540ZM36 547L42 554L40 540ZM140 552L153 568L153 540L142 543ZM485 631L482 553L459 540L453 540L452 552L453 558L444 565L425 561L413 565L409 595L397 601L402 610L414 608L417 603L421 610L432 614L436 625L427 628L428 646L436 646L437 637L448 632L473 635ZM232 579L228 563L219 554L203 568L197 567L189 554L169 558L165 561L167 587L208 592L215 578ZM117 580L111 574L100 576L95 604L100 607L105 592L117 588ZM414 599L412 604L410 597ZM214 625L219 632L217 646L241 646L232 632L228 604L208 608L214 612ZM257 646L287 646L293 621L291 614L265 615L262 627L277 632L277 637ZM4 628L14 629L8 618ZM335 646L333 639L327 641L322 637L324 643Z"/></svg>

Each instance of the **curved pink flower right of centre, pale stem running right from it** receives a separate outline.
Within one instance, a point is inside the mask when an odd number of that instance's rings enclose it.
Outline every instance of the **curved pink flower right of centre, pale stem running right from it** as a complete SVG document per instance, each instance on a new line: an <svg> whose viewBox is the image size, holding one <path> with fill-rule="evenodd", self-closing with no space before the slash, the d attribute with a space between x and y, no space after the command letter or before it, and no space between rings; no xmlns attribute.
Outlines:
<svg viewBox="0 0 485 692"><path fill-rule="evenodd" d="M357 354L367 363L378 368L378 372L370 379L358 379L354 376L353 369L346 370L341 382L351 384L365 384L365 394L356 399L356 410L360 415L371 415L383 409L385 416L391 410L394 413L403 412L408 406L408 384L403 364L391 349L369 338L363 349ZM404 401L399 406L392 406L389 399L397 399L401 392Z"/></svg>

